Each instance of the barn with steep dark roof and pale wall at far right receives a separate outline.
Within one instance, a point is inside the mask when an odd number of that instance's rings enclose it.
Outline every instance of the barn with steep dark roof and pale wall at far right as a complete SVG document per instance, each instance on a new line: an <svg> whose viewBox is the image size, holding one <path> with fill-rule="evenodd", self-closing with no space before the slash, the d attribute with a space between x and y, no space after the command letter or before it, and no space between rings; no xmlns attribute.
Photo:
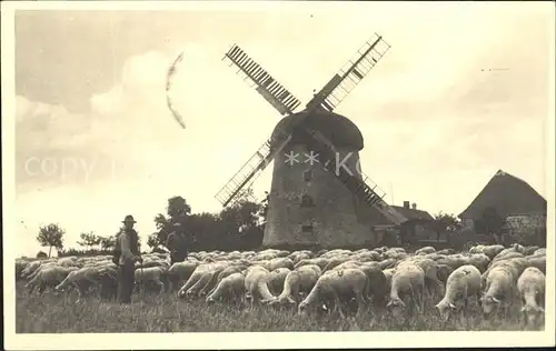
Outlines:
<svg viewBox="0 0 556 351"><path fill-rule="evenodd" d="M504 235L514 241L524 235L546 237L546 200L527 182L498 170L485 188L459 214L468 232L488 234L486 211L503 220Z"/></svg>

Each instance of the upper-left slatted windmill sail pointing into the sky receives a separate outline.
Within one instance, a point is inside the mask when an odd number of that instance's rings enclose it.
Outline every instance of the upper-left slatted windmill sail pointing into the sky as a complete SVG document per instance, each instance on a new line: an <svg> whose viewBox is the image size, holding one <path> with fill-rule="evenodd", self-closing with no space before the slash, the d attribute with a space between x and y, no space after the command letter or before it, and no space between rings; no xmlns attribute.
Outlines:
<svg viewBox="0 0 556 351"><path fill-rule="evenodd" d="M291 114L301 102L286 88L267 73L257 62L247 56L237 44L224 56L222 60L236 64L238 73L244 76L250 87L257 86L256 90L265 98L281 116Z"/></svg>

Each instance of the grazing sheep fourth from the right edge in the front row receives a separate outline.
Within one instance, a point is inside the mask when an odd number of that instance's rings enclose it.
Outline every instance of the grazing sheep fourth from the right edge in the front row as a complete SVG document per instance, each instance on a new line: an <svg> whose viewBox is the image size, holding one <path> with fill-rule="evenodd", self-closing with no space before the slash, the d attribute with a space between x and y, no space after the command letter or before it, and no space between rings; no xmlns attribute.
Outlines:
<svg viewBox="0 0 556 351"><path fill-rule="evenodd" d="M423 297L425 290L425 271L416 264L401 264L396 268L390 282L390 308L395 317L399 317L406 308L401 298L409 297L415 307L423 310Z"/></svg>

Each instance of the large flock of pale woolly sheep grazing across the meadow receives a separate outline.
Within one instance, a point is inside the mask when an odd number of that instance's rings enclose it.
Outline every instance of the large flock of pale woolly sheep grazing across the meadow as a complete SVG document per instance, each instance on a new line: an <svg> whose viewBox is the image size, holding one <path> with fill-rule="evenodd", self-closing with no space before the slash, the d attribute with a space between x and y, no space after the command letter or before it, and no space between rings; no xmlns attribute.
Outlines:
<svg viewBox="0 0 556 351"><path fill-rule="evenodd" d="M401 248L259 252L192 252L170 267L168 254L149 253L136 269L137 289L177 292L181 300L207 303L259 303L296 308L298 313L327 310L345 317L350 307L391 313L424 311L435 299L448 320L477 303L486 319L519 303L528 327L544 317L546 249L514 244L476 245L466 253L433 247L413 253ZM111 257L60 258L16 262L26 289L61 294L77 288L80 297L97 291L115 299L117 267ZM355 310L355 309L354 309ZM355 312L355 311L354 311Z"/></svg>

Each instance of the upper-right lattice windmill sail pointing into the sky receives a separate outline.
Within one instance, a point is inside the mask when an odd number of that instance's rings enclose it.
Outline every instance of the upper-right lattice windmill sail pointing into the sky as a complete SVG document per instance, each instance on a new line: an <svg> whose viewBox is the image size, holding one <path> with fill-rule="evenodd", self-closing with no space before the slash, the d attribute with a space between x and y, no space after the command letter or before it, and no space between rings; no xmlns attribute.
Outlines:
<svg viewBox="0 0 556 351"><path fill-rule="evenodd" d="M367 76L390 48L375 33L330 81L307 103L307 109L321 107L332 111Z"/></svg>

